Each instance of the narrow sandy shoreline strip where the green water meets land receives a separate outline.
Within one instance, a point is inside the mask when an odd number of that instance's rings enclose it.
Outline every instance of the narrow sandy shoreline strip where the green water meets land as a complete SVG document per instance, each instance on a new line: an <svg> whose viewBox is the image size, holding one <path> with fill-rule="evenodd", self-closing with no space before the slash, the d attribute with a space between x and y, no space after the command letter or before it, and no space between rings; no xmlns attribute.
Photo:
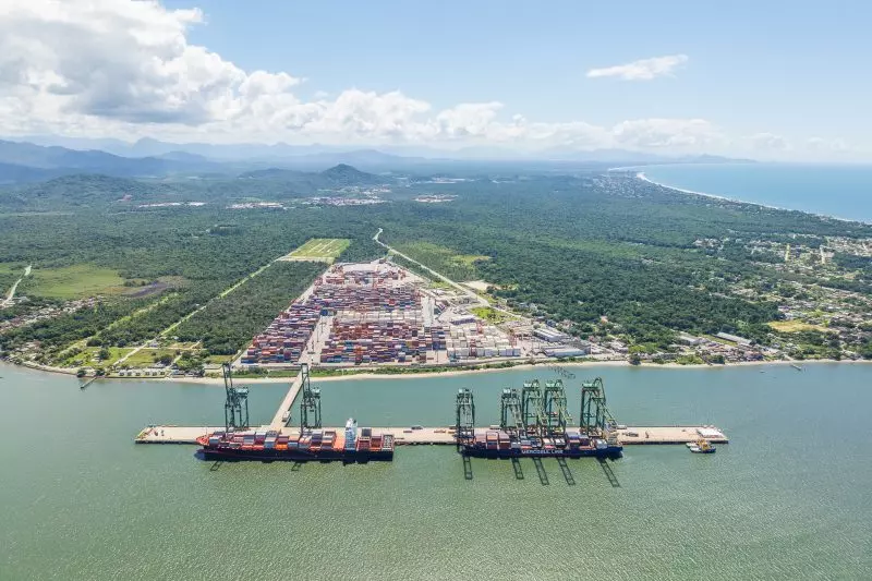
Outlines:
<svg viewBox="0 0 872 581"><path fill-rule="evenodd" d="M330 375L330 376L313 376L313 383L325 383L325 382L348 382L353 379L432 379L436 377L456 377L462 375L476 375L476 374L488 374L488 373L499 373L499 372L507 372L507 371L524 371L524 370L534 370L544 367L546 371L554 372L555 368L576 368L576 367L630 367L630 368L638 368L638 370L729 370L734 367L762 367L766 365L776 365L776 366L785 366L785 365L799 365L804 367L806 365L811 364L872 364L872 360L850 360L850 361L836 361L836 360L806 360L806 361L743 361L740 363L725 363L725 364L691 364L691 365L681 365L679 363L641 363L639 365L633 365L629 361L586 361L586 362L569 362L569 363L559 363L553 361L543 361L541 363L521 363L518 365L512 365L510 367L497 367L497 368L487 368L487 370L452 370L447 372L421 372L421 373L378 373L378 370L373 370L372 373L354 373L348 375ZM61 371L57 367L52 368L41 368L32 365L16 365L14 363L9 362L0 362L0 368L2 366L15 366L15 367L25 367L31 371L36 372L44 372L44 373L60 373L63 375L71 375L75 377L74 373L69 373L65 371ZM88 379L93 379L94 377L88 377ZM223 379L221 377L105 377L98 379L106 379L112 382L136 382L136 383L173 383L173 384L191 384L191 385L214 385L214 386L223 386ZM287 384L293 380L293 377L234 377L235 382L239 384Z"/></svg>

